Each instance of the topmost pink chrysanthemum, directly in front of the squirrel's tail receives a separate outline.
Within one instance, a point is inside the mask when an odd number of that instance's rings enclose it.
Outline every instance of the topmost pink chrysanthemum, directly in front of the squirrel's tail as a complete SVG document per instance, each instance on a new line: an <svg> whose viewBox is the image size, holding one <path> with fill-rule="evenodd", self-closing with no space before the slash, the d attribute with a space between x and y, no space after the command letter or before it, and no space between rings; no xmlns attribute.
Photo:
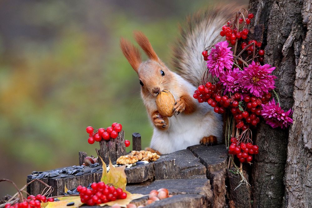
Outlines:
<svg viewBox="0 0 312 208"><path fill-rule="evenodd" d="M212 76L219 77L224 73L224 69L232 69L233 52L227 41L219 42L214 45L208 56L207 67Z"/></svg>

